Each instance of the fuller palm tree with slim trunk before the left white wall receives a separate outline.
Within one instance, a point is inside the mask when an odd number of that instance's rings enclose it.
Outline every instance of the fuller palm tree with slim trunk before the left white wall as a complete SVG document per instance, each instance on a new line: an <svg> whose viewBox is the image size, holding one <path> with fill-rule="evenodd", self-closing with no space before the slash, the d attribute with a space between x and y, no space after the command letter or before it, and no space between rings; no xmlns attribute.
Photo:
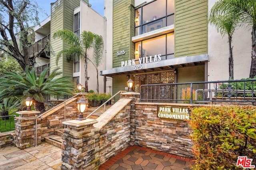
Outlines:
<svg viewBox="0 0 256 170"><path fill-rule="evenodd" d="M70 30L58 30L53 34L53 37L61 38L70 45L69 49L64 49L57 54L56 62L64 55L68 61L73 61L74 57L79 56L80 59L84 59L84 84L85 92L88 92L87 81L87 64L88 64L88 50L93 48L94 38L99 35L92 33L91 31L83 31L80 37L76 36ZM97 73L98 76L98 73Z"/></svg>

